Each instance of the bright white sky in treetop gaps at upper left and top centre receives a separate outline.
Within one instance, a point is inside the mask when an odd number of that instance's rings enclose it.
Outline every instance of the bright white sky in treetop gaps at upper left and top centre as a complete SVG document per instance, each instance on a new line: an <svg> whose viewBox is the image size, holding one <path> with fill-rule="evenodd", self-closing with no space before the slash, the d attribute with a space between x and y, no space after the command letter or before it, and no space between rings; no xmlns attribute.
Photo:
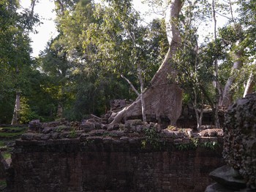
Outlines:
<svg viewBox="0 0 256 192"><path fill-rule="evenodd" d="M146 4L142 4L141 1L135 0L135 9L138 9L142 14L145 14L148 10ZM31 0L20 0L21 7L29 8ZM31 47L33 48L32 57L37 57L40 51L45 50L47 42L58 35L55 28L54 19L56 18L53 0L40 0L34 8L34 12L38 13L42 24L37 27L37 34L30 34Z"/></svg>

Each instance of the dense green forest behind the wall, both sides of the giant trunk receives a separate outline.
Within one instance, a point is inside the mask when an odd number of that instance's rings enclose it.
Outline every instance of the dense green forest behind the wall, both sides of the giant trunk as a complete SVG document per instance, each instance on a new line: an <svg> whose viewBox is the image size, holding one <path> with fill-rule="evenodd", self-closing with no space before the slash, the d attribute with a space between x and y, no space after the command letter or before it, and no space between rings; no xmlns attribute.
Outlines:
<svg viewBox="0 0 256 192"><path fill-rule="evenodd" d="M146 23L131 0L54 3L59 35L33 58L29 33L41 22L34 14L37 0L30 9L19 9L17 0L0 1L0 123L102 115L112 99L136 99L165 58L165 17ZM145 3L163 15L169 5ZM177 77L170 82L184 90L183 104L195 112L226 108L254 90L255 5L255 0L185 0L172 21L181 46L171 61ZM222 28L217 18L227 20ZM214 27L203 31L208 25Z"/></svg>

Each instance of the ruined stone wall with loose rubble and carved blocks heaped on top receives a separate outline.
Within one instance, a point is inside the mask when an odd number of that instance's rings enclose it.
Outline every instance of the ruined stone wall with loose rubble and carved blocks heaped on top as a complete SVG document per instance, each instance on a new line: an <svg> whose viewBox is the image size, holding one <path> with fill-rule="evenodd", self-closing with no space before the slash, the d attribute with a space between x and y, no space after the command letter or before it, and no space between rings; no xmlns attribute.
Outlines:
<svg viewBox="0 0 256 192"><path fill-rule="evenodd" d="M118 112L127 104L129 103L125 100L113 101L111 112ZM91 189L105 188L118 181L116 191L121 188L130 190L131 186L135 190L140 189L140 191L148 191L150 188L162 188L162 191L202 191L208 183L211 183L211 179L207 177L208 172L223 164L221 156L222 130L206 127L198 133L192 131L191 128L170 126L163 129L158 123L145 124L140 119L125 120L124 123L109 125L109 116L110 114L106 114L99 118L95 115L89 115L87 119L81 122L68 122L63 119L40 123L39 120L32 120L29 123L29 131L16 140L12 155L13 162L7 171L10 175L7 182L10 191L23 191L22 188L26 188L26 192L28 192L27 190L34 191L36 186L33 183L37 178L41 180L45 190L47 189L49 192L63 191L64 189L79 191L78 188L81 188L80 183L78 183L79 180L83 180L83 182L80 181L81 183L90 185ZM153 142L152 138L146 140L145 132L149 129L156 131L154 135L156 138L153 138ZM161 149L154 148L157 143L154 139L157 139L157 142L162 146ZM144 145L145 148L142 147L143 142L147 142ZM205 147L209 144L210 147L213 147L212 144L214 143L218 144L217 150ZM188 152L183 150L188 150ZM91 155L95 158L95 164L90 159ZM116 156L110 161L109 155ZM150 159L154 159L154 164ZM179 160L176 161L176 159ZM55 163L50 164L51 161ZM41 163L38 164L38 162ZM61 166L61 169L59 168L59 164L64 165L67 162L69 162L67 167ZM106 162L108 165L105 165ZM31 164L33 165L31 166ZM77 169L77 164L82 166L82 170L79 168L75 172L78 175L74 176L75 178L79 177L79 179L67 183L61 173L73 175L72 170ZM88 166L89 164L91 166ZM102 170L107 171L95 173L94 169L99 164L104 166ZM28 167L26 168L26 166ZM139 168L141 166L144 171L140 172L137 166ZM145 167L150 167L150 169ZM32 171L31 168L33 168ZM40 169L45 172L38 172ZM51 171L52 169L58 169L58 172ZM55 180L63 181L63 183L58 184L58 187L55 186L56 183L50 183L46 176L49 173L53 175L53 172ZM123 178L124 172L126 174ZM138 181L134 180L132 183L132 181L127 180L127 173L129 173L130 178L138 178ZM108 179L97 186L98 184L91 182L91 179L97 180L98 177ZM113 179L115 181L110 180L111 178L115 178ZM27 180L27 182L23 183L22 180ZM144 185L140 184L142 181ZM184 186L181 188L181 185ZM70 186L75 187L70 189ZM42 184L38 184L38 187L41 188Z"/></svg>

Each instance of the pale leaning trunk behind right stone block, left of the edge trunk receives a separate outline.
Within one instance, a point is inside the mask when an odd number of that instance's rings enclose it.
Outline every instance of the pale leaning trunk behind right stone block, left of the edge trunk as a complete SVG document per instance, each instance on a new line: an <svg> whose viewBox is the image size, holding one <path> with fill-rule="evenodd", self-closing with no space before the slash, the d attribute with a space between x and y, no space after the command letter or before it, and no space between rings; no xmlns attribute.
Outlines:
<svg viewBox="0 0 256 192"><path fill-rule="evenodd" d="M238 52L235 53L235 56L234 56L235 62L233 64L233 72L236 72L243 65L241 61L242 54L243 53L241 50L238 50ZM228 107L233 102L233 93L231 91L231 87L235 82L235 80L236 80L236 77L234 77L233 74L231 74L231 76L228 78L226 82L226 85L222 94L222 101L220 103L220 105L223 107Z"/></svg>

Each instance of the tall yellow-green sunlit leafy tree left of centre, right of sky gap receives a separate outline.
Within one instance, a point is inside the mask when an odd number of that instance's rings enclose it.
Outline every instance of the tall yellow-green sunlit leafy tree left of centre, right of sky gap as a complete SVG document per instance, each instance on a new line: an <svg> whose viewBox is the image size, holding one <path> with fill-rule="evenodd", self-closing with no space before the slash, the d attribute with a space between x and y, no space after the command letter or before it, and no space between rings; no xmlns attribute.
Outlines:
<svg viewBox="0 0 256 192"><path fill-rule="evenodd" d="M107 18L105 14L109 14L110 17ZM91 1L78 1L78 4L65 8L63 14L58 16L60 36L54 40L53 45L61 46L61 49L56 50L57 53L66 53L67 61L72 62L69 78L73 82L75 100L70 110L77 118L90 113L101 115L106 111L110 99L117 95L123 98L129 94L128 86L122 85L124 82L120 77L116 77L116 73L110 71L110 65L118 63L116 55L126 53L126 50L124 53L115 51L119 46L125 47L128 42L127 40L122 44L121 35L115 35L115 31L119 30L118 26L104 26L105 21L108 22L111 17L113 12ZM94 31L99 26L100 28ZM113 30L113 34L110 30ZM111 49L113 45L116 45L114 50ZM113 51L108 51L110 55L105 52L105 46ZM112 56L113 60L110 60Z"/></svg>

